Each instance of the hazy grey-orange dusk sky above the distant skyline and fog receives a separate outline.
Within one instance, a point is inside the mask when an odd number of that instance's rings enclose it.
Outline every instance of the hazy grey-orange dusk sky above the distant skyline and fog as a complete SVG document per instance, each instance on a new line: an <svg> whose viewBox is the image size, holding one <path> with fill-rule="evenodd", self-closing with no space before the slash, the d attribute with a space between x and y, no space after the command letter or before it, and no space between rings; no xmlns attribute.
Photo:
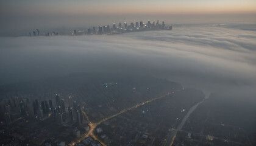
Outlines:
<svg viewBox="0 0 256 146"><path fill-rule="evenodd" d="M256 23L255 0L0 0L0 35L127 21Z"/></svg>

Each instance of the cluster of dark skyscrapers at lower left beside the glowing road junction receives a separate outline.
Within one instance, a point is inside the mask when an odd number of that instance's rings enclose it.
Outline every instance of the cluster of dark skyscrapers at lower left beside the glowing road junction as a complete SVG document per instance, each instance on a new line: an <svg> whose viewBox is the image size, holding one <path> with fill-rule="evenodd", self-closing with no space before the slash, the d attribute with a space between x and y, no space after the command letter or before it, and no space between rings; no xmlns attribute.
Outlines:
<svg viewBox="0 0 256 146"><path fill-rule="evenodd" d="M67 108L66 105L68 105ZM78 126L85 121L80 105L73 101L72 97L68 98L68 104L65 103L64 99L60 99L59 94L55 95L55 106L52 99L39 101L37 99L16 97L2 100L0 111L1 114L4 114L6 124L20 118L25 120L32 118L44 119L49 116L55 116L56 122L60 125L63 124L64 120L71 123L76 122Z"/></svg>

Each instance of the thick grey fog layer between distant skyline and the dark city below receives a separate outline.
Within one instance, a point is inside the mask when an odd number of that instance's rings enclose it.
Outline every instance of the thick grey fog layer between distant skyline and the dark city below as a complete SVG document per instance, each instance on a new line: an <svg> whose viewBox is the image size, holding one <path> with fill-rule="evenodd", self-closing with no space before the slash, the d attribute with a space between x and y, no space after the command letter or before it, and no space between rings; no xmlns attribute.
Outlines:
<svg viewBox="0 0 256 146"><path fill-rule="evenodd" d="M205 91L256 86L256 33L215 26L123 35L0 38L0 83L73 72L167 78Z"/></svg>

